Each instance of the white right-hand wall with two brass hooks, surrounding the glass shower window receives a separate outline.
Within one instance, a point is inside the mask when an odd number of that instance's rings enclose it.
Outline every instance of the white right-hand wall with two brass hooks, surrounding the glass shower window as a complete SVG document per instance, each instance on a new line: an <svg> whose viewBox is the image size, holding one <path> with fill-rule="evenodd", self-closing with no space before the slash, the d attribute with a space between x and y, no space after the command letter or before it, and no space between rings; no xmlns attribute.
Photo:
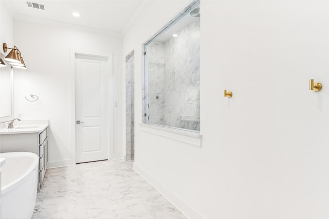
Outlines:
<svg viewBox="0 0 329 219"><path fill-rule="evenodd" d="M201 148L138 126L141 45L187 4L144 4L123 37L136 54L134 168L190 218L329 218L329 2L202 0Z"/></svg>

